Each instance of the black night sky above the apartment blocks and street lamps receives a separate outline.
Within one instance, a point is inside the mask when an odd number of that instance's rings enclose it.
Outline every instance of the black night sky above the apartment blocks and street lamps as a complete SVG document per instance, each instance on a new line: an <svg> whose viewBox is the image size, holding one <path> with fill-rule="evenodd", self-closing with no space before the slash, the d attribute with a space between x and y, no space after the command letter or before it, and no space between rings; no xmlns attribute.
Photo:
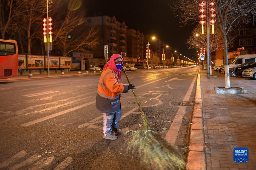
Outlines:
<svg viewBox="0 0 256 170"><path fill-rule="evenodd" d="M99 13L110 17L115 15L117 21L125 22L127 29L139 29L144 35L154 35L178 54L197 58L196 50L188 49L185 44L194 26L180 23L170 7L173 2L176 3L175 0L84 0L83 7L87 16L99 16Z"/></svg>

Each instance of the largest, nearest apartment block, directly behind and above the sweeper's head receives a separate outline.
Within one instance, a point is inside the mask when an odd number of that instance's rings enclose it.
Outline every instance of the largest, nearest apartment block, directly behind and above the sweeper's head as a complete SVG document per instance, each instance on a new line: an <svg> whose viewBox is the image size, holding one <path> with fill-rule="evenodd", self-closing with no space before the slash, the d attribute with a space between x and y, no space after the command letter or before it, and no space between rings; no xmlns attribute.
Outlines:
<svg viewBox="0 0 256 170"><path fill-rule="evenodd" d="M125 22L116 21L115 16L87 17L86 25L99 29L101 43L90 52L95 58L104 58L104 45L109 46L109 57L113 54L127 53L127 26Z"/></svg>

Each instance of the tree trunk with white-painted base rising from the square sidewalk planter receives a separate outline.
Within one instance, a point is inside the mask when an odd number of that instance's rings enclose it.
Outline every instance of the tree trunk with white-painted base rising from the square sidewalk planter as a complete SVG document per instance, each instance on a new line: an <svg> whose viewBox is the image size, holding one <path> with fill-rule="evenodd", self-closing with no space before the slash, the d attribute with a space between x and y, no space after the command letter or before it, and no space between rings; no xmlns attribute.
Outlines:
<svg viewBox="0 0 256 170"><path fill-rule="evenodd" d="M227 35L223 35L223 43L224 43L224 65L225 65L224 66L225 67L225 88L230 88Z"/></svg>

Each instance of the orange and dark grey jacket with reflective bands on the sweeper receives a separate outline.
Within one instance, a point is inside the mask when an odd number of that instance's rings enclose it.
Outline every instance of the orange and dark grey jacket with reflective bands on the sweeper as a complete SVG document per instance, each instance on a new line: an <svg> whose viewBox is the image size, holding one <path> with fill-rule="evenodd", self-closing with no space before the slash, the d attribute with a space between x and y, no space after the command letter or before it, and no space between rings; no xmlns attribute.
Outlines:
<svg viewBox="0 0 256 170"><path fill-rule="evenodd" d="M96 108L102 113L116 113L121 109L120 93L128 92L128 84L120 83L118 75L109 67L101 73L96 96Z"/></svg>

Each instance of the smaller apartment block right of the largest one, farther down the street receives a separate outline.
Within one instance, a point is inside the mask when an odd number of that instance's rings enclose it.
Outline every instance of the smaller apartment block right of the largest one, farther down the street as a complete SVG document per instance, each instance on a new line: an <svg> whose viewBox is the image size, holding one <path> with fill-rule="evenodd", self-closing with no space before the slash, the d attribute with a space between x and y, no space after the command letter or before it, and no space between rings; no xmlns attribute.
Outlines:
<svg viewBox="0 0 256 170"><path fill-rule="evenodd" d="M144 35L140 30L127 29L127 57L143 59Z"/></svg>

